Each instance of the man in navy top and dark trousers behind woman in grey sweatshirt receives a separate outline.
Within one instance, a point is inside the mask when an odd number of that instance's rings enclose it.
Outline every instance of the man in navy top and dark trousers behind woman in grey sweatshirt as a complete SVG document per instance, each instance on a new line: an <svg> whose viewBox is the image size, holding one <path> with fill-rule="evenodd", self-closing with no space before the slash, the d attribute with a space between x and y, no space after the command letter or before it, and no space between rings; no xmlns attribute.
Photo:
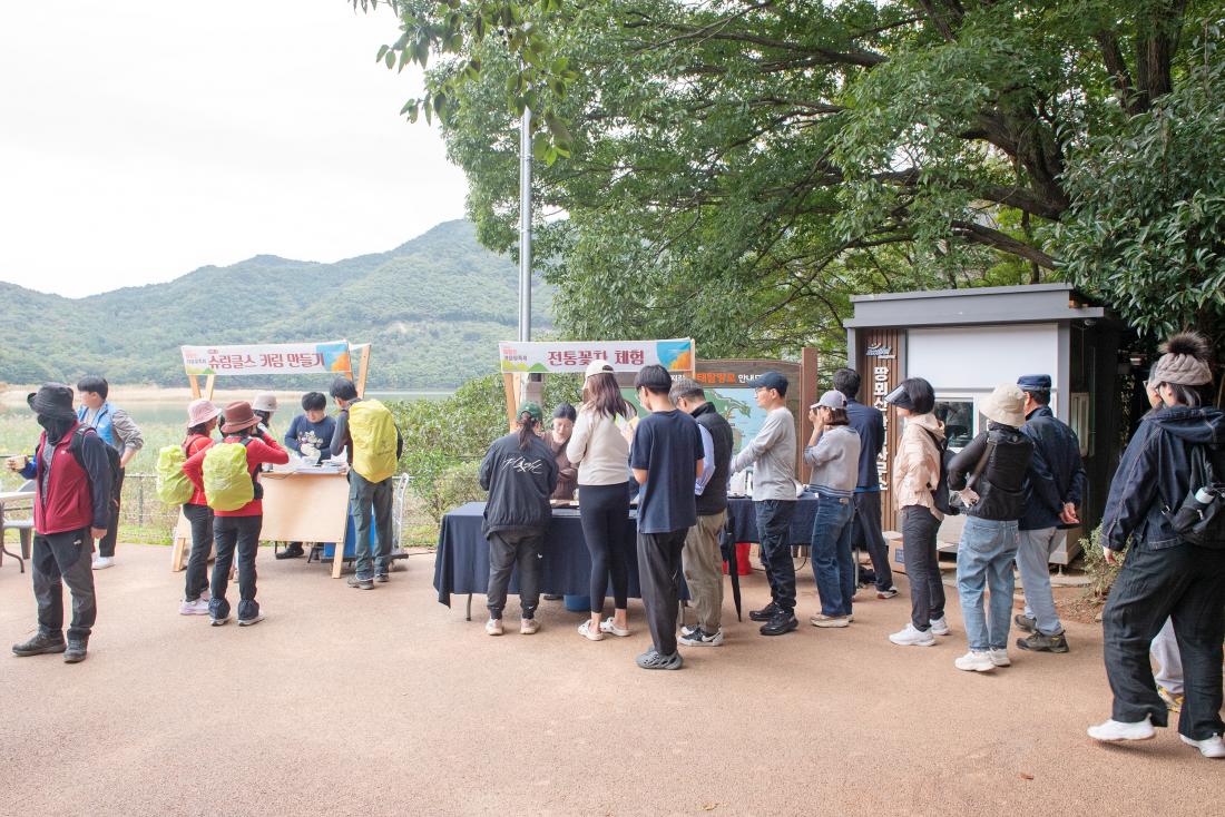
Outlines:
<svg viewBox="0 0 1225 817"><path fill-rule="evenodd" d="M881 532L881 475L876 461L884 448L884 415L875 405L865 405L855 397L861 378L854 369L834 372L834 388L846 398L846 420L859 435L859 476L855 481L855 513L850 521L851 544L859 543L872 560L876 573L876 598L892 599L898 594L889 570L889 546Z"/></svg>

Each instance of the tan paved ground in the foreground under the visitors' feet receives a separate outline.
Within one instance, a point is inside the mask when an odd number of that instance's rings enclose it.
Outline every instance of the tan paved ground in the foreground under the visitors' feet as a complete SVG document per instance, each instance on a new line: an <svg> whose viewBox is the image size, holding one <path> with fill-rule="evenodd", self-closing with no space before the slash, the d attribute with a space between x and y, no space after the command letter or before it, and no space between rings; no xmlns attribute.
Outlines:
<svg viewBox="0 0 1225 817"><path fill-rule="evenodd" d="M1225 762L1174 730L1100 747L1101 632L1067 655L1012 650L959 672L953 636L900 648L903 593L818 631L811 572L800 631L736 623L646 672L635 634L589 643L543 603L537 636L484 634L437 604L432 556L375 592L260 552L256 627L176 615L169 550L121 546L97 573L89 659L0 655L0 815L1208 815ZM904 585L904 579L903 579ZM235 593L236 595L236 593ZM864 594L861 593L861 597ZM746 577L745 601L767 597ZM29 574L0 567L0 643L33 632Z"/></svg>

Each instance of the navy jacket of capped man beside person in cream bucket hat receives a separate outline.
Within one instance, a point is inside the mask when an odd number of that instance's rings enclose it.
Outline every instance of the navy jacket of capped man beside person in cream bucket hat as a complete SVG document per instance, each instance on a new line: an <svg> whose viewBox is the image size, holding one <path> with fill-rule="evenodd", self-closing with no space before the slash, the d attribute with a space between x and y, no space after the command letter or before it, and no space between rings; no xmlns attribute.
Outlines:
<svg viewBox="0 0 1225 817"><path fill-rule="evenodd" d="M1069 528L1060 521L1063 505L1079 506L1089 481L1080 461L1080 441L1068 424L1042 405L1030 412L1020 432L1034 441L1034 457L1025 474L1025 512L1022 530Z"/></svg>

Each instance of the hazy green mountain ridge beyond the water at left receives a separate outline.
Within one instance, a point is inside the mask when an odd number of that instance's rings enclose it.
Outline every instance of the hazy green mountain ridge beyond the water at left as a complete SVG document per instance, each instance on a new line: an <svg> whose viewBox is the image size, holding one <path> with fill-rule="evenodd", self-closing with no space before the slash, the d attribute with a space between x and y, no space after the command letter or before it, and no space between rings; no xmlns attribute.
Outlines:
<svg viewBox="0 0 1225 817"><path fill-rule="evenodd" d="M453 387L496 371L513 339L518 269L445 222L387 252L334 263L257 255L174 280L81 299L0 283L0 380L181 386L179 347L348 339L371 343L372 388ZM551 293L533 285L533 326L549 328ZM311 377L233 377L223 385L318 387Z"/></svg>

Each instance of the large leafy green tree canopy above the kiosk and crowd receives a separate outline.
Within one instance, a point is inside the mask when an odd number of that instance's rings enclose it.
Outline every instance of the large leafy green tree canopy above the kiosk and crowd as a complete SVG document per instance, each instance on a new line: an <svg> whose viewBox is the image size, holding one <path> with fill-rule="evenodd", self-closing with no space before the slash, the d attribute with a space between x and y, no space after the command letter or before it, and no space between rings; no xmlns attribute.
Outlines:
<svg viewBox="0 0 1225 817"><path fill-rule="evenodd" d="M441 55L405 113L440 116L496 249L543 114L538 255L576 337L835 345L855 293L1062 276L1220 337L1220 0L390 5L388 67Z"/></svg>

